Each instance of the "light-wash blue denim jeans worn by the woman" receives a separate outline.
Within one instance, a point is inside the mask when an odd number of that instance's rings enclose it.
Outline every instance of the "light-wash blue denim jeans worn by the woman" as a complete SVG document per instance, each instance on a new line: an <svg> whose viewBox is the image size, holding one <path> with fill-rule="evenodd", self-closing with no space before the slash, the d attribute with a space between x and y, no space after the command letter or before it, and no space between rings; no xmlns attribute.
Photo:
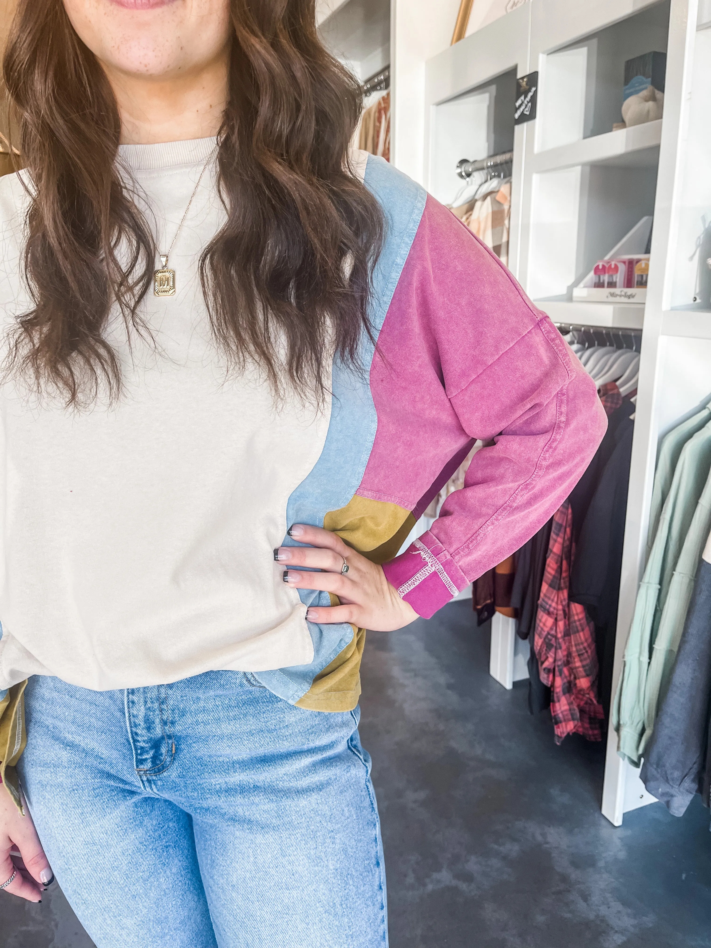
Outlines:
<svg viewBox="0 0 711 948"><path fill-rule="evenodd" d="M381 948L385 866L358 712L251 675L27 685L19 771L99 948Z"/></svg>

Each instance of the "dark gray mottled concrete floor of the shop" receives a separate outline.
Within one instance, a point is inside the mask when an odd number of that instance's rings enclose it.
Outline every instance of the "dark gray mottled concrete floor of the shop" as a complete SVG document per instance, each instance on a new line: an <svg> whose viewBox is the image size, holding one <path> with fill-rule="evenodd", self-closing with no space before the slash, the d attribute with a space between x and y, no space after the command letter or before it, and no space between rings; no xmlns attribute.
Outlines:
<svg viewBox="0 0 711 948"><path fill-rule="evenodd" d="M468 603L370 632L361 707L391 948L711 948L709 813L654 804L614 829L603 748L556 747L525 683L489 677ZM37 906L0 893L1 948L91 948L53 888Z"/></svg>

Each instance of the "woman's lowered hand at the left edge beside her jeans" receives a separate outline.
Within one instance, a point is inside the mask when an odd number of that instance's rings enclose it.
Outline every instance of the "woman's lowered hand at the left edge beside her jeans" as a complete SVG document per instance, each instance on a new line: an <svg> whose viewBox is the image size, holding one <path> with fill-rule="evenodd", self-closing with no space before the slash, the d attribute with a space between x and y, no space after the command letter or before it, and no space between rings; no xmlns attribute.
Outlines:
<svg viewBox="0 0 711 948"><path fill-rule="evenodd" d="M54 874L27 804L25 812L27 816L22 816L8 791L0 785L0 885L15 872L15 878L3 891L19 895L27 902L42 902L42 893L54 882ZM17 852L19 856L13 855Z"/></svg>

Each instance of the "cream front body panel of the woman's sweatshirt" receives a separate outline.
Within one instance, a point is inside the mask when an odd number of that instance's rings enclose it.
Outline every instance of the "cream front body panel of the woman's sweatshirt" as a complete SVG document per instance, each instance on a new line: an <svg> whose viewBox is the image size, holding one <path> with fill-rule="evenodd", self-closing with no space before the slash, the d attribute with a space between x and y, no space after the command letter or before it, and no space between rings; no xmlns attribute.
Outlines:
<svg viewBox="0 0 711 948"><path fill-rule="evenodd" d="M214 139L121 146L170 246ZM273 549L286 499L319 458L330 406L275 408L256 372L226 373L197 272L224 221L213 161L169 265L174 297L146 297L155 345L114 319L124 397L89 411L0 390L0 690L31 674L108 689L209 669L304 665L299 593ZM20 280L27 196L0 180L4 337L29 306ZM156 261L156 267L159 266Z"/></svg>

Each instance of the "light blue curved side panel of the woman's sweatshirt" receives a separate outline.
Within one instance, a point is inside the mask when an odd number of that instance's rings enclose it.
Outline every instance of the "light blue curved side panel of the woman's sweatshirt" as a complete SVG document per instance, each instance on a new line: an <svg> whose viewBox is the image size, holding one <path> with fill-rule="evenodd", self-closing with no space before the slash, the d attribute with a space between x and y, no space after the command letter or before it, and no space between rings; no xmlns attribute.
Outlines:
<svg viewBox="0 0 711 948"><path fill-rule="evenodd" d="M417 228L420 225L427 191L405 174L395 171L383 158L370 155L365 174L366 187L385 210L387 234L385 246L374 271L374 296L371 320L374 335L382 328L397 282ZM377 416L370 389L370 368L374 346L364 338L361 344L363 373L357 374L334 362L331 419L319 461L292 493L286 506L286 522L323 526L330 510L339 510L351 501L363 480L375 440ZM283 545L296 545L289 537ZM307 606L328 606L328 593L300 590ZM309 623L314 643L314 661L310 665L261 671L256 678L287 702L298 702L308 691L322 668L353 639L347 623L319 626Z"/></svg>

